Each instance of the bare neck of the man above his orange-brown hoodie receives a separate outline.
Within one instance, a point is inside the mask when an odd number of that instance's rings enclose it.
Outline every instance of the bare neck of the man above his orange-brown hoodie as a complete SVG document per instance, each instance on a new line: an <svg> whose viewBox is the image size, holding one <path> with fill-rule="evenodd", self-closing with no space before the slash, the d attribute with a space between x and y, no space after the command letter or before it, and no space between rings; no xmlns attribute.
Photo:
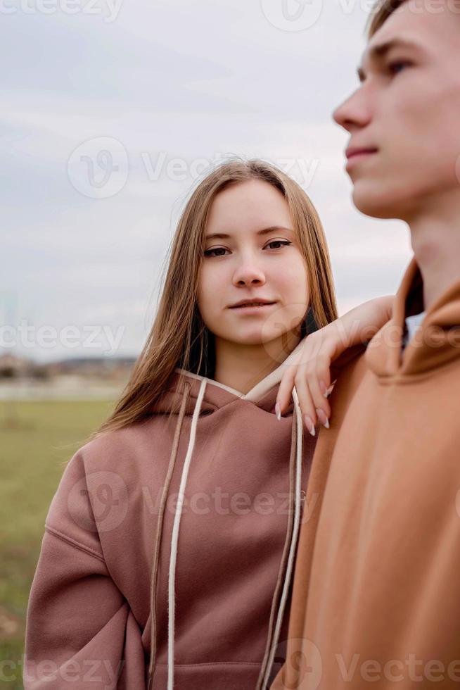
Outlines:
<svg viewBox="0 0 460 690"><path fill-rule="evenodd" d="M424 214L423 218L411 220L409 227L427 311L460 280L460 205L454 213Z"/></svg>

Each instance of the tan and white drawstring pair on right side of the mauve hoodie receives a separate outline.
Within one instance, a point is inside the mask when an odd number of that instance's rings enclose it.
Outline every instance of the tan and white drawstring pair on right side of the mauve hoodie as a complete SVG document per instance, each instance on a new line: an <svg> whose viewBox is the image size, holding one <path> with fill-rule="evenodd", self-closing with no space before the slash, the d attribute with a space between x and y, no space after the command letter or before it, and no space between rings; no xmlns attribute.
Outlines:
<svg viewBox="0 0 460 690"><path fill-rule="evenodd" d="M283 548L283 556L281 557L281 565L279 569L278 581L276 582L276 589L271 603L271 614L269 622L269 633L267 638L267 648L260 669L259 679L257 680L256 690L265 689L269 680L271 666L274 662L276 653L276 646L278 645L281 625L283 623L284 608L286 606L286 599L288 598L288 590L290 579L295 560L295 550L297 547L298 533L300 527L300 505L301 505L301 487L302 487L302 413L300 411L300 404L297 391L293 388L294 414L293 414L293 429L290 441L290 459L289 459L289 517L288 529L286 532L286 541ZM295 463L294 463L295 458ZM295 484L295 488L294 485ZM293 491L294 489L294 491ZM294 504L294 510L293 510ZM292 532L291 532L292 529ZM284 576L283 591L279 602L278 615L276 617L276 625L271 639L274 610L276 607L276 600L279 596L281 588L281 580L283 578L284 564L286 563L286 553L289 549L288 563L286 566L286 574Z"/></svg>

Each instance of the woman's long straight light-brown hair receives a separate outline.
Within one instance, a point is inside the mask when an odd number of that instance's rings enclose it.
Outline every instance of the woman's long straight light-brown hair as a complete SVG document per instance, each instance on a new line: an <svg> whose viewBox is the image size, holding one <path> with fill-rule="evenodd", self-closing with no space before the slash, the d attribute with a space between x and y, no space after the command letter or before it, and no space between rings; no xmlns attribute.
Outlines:
<svg viewBox="0 0 460 690"><path fill-rule="evenodd" d="M198 184L186 204L170 247L165 282L151 332L113 413L89 440L146 419L165 391L175 368L213 376L213 335L197 307L205 227L215 196L230 184L247 180L263 180L272 184L288 203L293 229L305 258L309 284L309 311L302 323L301 337L337 318L326 238L307 194L274 165L260 160L226 161Z"/></svg>

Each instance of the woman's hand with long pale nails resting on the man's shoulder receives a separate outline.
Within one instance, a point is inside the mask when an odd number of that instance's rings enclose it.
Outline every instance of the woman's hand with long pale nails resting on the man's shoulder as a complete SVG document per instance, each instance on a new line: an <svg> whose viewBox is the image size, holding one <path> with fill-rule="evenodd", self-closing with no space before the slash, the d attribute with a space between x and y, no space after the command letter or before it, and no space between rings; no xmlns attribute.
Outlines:
<svg viewBox="0 0 460 690"><path fill-rule="evenodd" d="M276 396L276 415L288 408L293 387L298 394L302 419L312 436L321 423L329 428L331 365L348 348L366 343L390 319L393 296L372 299L329 323L303 340L298 355L284 372Z"/></svg>

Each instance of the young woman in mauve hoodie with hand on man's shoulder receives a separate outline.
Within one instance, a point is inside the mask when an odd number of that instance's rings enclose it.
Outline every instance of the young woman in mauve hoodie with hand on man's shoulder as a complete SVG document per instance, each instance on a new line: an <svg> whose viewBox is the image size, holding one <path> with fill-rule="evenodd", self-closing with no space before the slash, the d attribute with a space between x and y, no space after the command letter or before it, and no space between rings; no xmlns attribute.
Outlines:
<svg viewBox="0 0 460 690"><path fill-rule="evenodd" d="M267 687L330 365L388 306L337 320L318 215L280 170L198 185L132 377L49 508L25 690Z"/></svg>

